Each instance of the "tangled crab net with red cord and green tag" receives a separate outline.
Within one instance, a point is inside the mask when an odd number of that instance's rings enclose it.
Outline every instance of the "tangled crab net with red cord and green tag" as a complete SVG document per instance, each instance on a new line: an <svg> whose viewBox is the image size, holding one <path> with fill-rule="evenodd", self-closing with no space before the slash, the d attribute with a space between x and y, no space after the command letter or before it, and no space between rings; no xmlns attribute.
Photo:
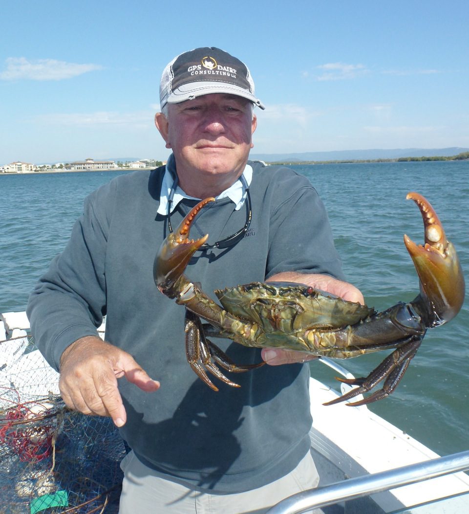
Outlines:
<svg viewBox="0 0 469 514"><path fill-rule="evenodd" d="M117 513L124 442L68 410L58 381L30 337L0 342L0 512Z"/></svg>

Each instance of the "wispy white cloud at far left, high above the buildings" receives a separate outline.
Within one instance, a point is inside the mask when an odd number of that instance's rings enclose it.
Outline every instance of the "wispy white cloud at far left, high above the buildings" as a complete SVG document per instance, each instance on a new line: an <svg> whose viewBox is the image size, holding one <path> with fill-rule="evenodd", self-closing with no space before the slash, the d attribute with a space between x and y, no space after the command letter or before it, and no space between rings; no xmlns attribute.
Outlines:
<svg viewBox="0 0 469 514"><path fill-rule="evenodd" d="M9 57L6 69L0 73L2 80L62 80L103 69L99 64L76 64L55 59L28 60Z"/></svg>

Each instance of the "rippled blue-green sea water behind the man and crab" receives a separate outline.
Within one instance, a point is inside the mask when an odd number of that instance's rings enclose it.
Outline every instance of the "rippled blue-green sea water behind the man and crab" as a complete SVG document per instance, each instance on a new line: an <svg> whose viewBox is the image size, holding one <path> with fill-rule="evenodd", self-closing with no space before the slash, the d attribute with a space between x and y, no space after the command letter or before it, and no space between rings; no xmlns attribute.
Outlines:
<svg viewBox="0 0 469 514"><path fill-rule="evenodd" d="M383 310L418 294L402 240L406 233L423 242L420 212L405 200L409 191L436 209L469 282L468 161L292 168L320 193L347 280L368 305ZM36 280L65 246L85 196L122 173L0 176L0 312L25 309ZM366 376L384 357L380 352L341 364ZM324 368L311 363L312 375L332 384L333 372ZM441 455L469 449L469 299L452 322L427 332L396 391L370 409Z"/></svg>

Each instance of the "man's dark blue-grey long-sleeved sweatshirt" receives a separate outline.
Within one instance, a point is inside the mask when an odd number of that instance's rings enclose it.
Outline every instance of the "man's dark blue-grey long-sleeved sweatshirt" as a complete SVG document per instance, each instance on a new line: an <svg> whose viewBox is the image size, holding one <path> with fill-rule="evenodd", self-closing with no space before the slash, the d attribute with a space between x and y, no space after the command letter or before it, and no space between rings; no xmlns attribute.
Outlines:
<svg viewBox="0 0 469 514"><path fill-rule="evenodd" d="M230 249L197 252L187 277L214 300L216 288L263 281L280 271L342 279L327 214L310 182L288 168L250 164L250 230ZM65 250L31 293L32 332L58 370L65 348L97 335L107 315L106 340L161 382L158 391L145 393L119 379L127 411L120 431L140 460L200 490L257 488L288 473L308 451L309 368L266 365L229 374L241 388L217 382L219 392L194 374L185 358L184 308L153 280L155 254L167 234L166 217L156 212L163 174L160 167L119 176L86 199ZM173 228L195 203L181 202ZM239 230L245 208L234 207L228 198L209 204L193 237L209 233L212 243ZM261 361L258 349L216 343L236 363Z"/></svg>

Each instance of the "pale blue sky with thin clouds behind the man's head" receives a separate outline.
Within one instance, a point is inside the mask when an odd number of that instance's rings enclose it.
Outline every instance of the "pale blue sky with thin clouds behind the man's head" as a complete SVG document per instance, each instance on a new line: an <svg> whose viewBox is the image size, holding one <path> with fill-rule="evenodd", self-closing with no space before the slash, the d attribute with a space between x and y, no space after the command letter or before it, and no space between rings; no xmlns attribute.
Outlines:
<svg viewBox="0 0 469 514"><path fill-rule="evenodd" d="M0 165L165 160L161 71L199 46L251 69L253 153L469 147L467 0L3 0L0 19Z"/></svg>

